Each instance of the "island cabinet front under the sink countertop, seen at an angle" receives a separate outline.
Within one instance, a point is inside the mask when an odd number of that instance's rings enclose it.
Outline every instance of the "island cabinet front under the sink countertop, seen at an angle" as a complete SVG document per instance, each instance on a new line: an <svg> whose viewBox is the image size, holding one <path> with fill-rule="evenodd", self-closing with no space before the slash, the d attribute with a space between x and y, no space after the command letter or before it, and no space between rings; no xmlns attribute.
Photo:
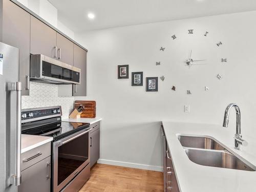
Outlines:
<svg viewBox="0 0 256 192"><path fill-rule="evenodd" d="M175 175L175 168L170 156L170 151L166 138L164 135L163 127L162 132L162 159L163 159L163 173L164 173L164 191L165 192L179 192L179 185Z"/></svg>

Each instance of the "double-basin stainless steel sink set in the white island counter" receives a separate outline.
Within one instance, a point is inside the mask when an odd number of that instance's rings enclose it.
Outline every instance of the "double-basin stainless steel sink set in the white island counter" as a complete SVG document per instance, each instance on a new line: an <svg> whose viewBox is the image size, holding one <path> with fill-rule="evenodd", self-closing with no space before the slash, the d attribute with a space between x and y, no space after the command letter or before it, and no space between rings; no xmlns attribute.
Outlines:
<svg viewBox="0 0 256 192"><path fill-rule="evenodd" d="M205 136L179 135L178 139L190 161L194 163L231 168L247 171L255 171L256 167L242 157L228 151L223 144L214 138Z"/></svg>

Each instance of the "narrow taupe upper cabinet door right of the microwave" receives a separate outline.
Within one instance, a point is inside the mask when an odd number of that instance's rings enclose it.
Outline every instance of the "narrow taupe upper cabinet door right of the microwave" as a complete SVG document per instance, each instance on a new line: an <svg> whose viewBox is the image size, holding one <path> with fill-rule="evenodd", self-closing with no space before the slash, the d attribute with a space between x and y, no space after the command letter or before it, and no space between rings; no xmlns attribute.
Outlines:
<svg viewBox="0 0 256 192"><path fill-rule="evenodd" d="M87 93L87 51L74 44L74 67L81 69L80 83L73 85L73 96L86 96Z"/></svg>

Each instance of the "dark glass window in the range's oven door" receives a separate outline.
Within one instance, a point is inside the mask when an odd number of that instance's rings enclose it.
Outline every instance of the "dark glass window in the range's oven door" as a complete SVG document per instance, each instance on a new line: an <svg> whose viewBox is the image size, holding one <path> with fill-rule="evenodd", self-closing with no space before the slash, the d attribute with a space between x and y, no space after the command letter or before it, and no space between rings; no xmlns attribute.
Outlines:
<svg viewBox="0 0 256 192"><path fill-rule="evenodd" d="M88 160L89 133L58 147L58 185Z"/></svg>

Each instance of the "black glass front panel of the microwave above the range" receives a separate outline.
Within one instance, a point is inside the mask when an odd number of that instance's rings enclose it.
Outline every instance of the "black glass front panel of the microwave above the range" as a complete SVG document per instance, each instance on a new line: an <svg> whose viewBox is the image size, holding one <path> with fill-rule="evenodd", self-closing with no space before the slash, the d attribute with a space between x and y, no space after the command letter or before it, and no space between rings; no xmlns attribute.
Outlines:
<svg viewBox="0 0 256 192"><path fill-rule="evenodd" d="M53 65L46 61L42 61L42 75L74 82L80 81L80 73Z"/></svg>

